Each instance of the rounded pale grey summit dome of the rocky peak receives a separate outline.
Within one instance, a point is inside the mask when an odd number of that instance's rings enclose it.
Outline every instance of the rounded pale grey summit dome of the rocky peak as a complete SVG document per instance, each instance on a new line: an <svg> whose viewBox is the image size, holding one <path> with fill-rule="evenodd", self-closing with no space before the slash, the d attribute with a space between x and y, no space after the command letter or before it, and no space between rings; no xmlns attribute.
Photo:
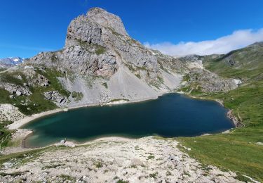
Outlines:
<svg viewBox="0 0 263 183"><path fill-rule="evenodd" d="M125 27L119 16L105 11L102 8L90 8L87 13L88 20L98 23L104 27L112 28L115 32L127 36Z"/></svg>

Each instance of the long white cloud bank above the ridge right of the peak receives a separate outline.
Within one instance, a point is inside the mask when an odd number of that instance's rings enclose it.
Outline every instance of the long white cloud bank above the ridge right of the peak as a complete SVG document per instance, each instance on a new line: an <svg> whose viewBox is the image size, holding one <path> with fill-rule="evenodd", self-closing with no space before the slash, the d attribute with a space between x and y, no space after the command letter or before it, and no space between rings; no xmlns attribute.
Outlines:
<svg viewBox="0 0 263 183"><path fill-rule="evenodd" d="M144 46L157 49L170 56L185 56L189 54L209 55L213 53L228 53L234 49L240 49L261 41L263 41L263 28L256 31L237 30L227 36L202 42L180 42L178 44L170 42L149 44L149 42L146 42Z"/></svg>

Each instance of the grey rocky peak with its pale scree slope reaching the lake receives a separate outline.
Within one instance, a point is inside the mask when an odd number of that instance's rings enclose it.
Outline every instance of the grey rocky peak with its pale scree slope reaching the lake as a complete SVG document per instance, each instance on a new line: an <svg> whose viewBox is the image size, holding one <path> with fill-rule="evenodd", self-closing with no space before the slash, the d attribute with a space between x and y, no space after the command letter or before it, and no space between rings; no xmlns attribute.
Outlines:
<svg viewBox="0 0 263 183"><path fill-rule="evenodd" d="M65 73L60 82L69 92L82 93L78 104L83 104L151 99L176 89L180 73L161 70L157 59L128 36L118 16L92 8L69 24L62 50L39 53L28 63Z"/></svg>

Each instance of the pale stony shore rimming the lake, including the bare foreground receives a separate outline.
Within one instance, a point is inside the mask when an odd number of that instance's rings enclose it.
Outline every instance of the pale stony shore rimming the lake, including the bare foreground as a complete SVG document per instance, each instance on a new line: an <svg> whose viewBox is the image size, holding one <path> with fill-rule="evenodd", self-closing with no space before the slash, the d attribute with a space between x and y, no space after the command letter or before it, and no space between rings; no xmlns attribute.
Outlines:
<svg viewBox="0 0 263 183"><path fill-rule="evenodd" d="M140 100L140 101L144 101L144 100ZM123 103L134 103L140 101L125 101L125 102L123 101ZM14 129L14 127L19 128L22 125L25 125L27 122L36 120L36 118L41 118L46 115L51 115L53 113L59 113L74 108L100 106L100 105L114 105L119 103L120 102L108 103L108 104L93 103L89 105L75 106L72 108L58 108L53 111L47 111L44 113L29 116L29 118L23 118L24 120L20 120L19 122L16 122L15 125L9 127L11 127L12 129ZM227 116L231 120L236 119L233 118L234 117L233 114ZM17 130L22 130L18 128ZM83 144L76 144L73 141L66 141L65 143L52 144L50 146L36 149L36 148L27 148L25 146L25 139L29 137L30 134L32 134L32 131L30 133L27 132L25 137L23 137L21 143L22 146L20 146L20 148L9 149L8 151L6 151L6 153L28 151L29 149L41 151L41 149L46 149L48 147L52 148L53 146L55 147L66 146L67 149L46 151L45 153L43 153L41 157L36 158L36 160L33 160L32 162L28 162L25 165L20 165L18 167L17 165L15 165L15 167L12 167L11 165L11 167L8 167L6 170L5 169L2 170L4 171L4 175L6 176L2 176L2 177L0 176L1 181L9 182L14 179L25 179L27 180L26 182L31 182L32 180L36 180L36 181L47 180L51 182L52 181L63 182L66 181L67 179L71 179L74 180L73 182L101 182L104 179L110 179L111 180L110 182L116 182L116 180L119 179L119 180L128 180L130 182L133 181L159 182L163 179L167 179L168 181L178 180L180 182L189 182L189 181L190 182L193 181L194 182L238 182L238 180L235 179L236 174L234 172L222 172L213 166L209 166L209 168L202 168L202 165L198 163L198 161L190 158L187 155L187 153L183 153L182 151L180 151L180 149L178 148L180 144L178 144L178 142L175 139L163 139L163 138L159 139L159 137L144 137L141 139L128 139L123 137L102 137L99 139L95 139L93 141L86 141ZM168 147L171 145L170 143L174 144L173 149L168 150ZM98 145L95 145L93 147L93 145L90 146L90 144L98 144ZM103 144L108 144L108 145L105 146ZM119 144L119 145L114 145L114 144ZM162 145L161 146L158 145L157 147L156 145L153 144L162 144ZM147 149L144 149L145 146L147 146ZM135 147L135 151L130 151L134 147ZM149 149L152 148L154 148L155 150L149 151ZM109 149L113 149L113 150L111 151ZM116 155L116 149L119 149L120 154L117 153ZM144 149L143 150L144 152L142 152L142 149ZM166 149L165 152L164 149ZM136 154L135 152L137 151L140 151L140 153ZM156 153L159 151L161 153L159 153L157 157ZM187 151L191 151L191 149L187 149ZM102 152L104 152L103 157L101 156L101 154L103 154ZM61 153L63 154L63 156ZM93 158L86 159L81 156L82 158L79 159L79 154L82 155L87 153L88 156L92 156ZM146 156L144 157L141 153L145 153ZM72 157L72 154L75 154L74 156L78 157L77 159L78 162L81 162L81 160L85 160L86 165L90 166L90 170L86 172L84 171L83 168L80 168L79 165L75 165L74 161L76 160L67 159L68 161L65 161L64 159L60 160L59 158L59 157L64 157L64 158ZM113 156L114 157L117 156L117 158L114 158L114 162L115 161L116 162L110 163ZM151 158L154 158L155 161L152 161ZM42 165L43 160L45 160L45 162L48 163L48 165ZM66 162L66 163L63 164L62 162ZM99 162L100 165L96 164L96 162ZM139 162L139 164L137 164L137 162ZM171 168L170 165L170 163L173 164L173 162L175 163L174 164L175 169ZM39 163L41 163L41 165ZM60 163L62 164L60 165ZM169 170L169 168L171 169ZM156 174L156 171L154 172L154 170L158 170L157 171L158 173ZM168 171L163 172L165 170ZM18 172L18 171L22 172L21 175L18 175L17 177L13 177L12 172ZM67 176L65 177L65 175Z"/></svg>

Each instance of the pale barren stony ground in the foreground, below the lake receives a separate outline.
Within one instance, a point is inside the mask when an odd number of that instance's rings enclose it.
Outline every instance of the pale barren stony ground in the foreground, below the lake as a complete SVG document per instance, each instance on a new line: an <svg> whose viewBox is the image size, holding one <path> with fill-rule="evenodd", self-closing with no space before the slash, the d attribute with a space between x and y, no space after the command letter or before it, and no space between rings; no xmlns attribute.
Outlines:
<svg viewBox="0 0 263 183"><path fill-rule="evenodd" d="M175 139L159 137L112 137L75 147L64 144L4 163L0 181L239 182L234 172L205 167L180 149L191 151Z"/></svg>

